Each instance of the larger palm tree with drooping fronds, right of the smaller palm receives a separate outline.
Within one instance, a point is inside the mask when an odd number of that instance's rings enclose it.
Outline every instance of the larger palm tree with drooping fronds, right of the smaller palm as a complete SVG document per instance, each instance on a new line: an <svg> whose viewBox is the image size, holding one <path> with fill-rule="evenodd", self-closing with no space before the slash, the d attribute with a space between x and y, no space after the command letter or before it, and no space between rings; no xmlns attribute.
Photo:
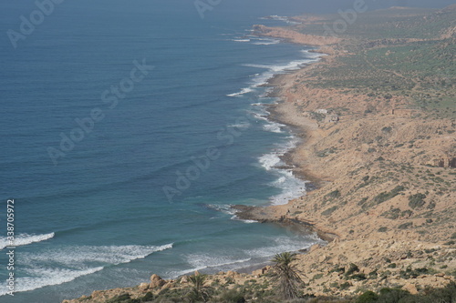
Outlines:
<svg viewBox="0 0 456 303"><path fill-rule="evenodd" d="M297 274L297 269L291 265L296 259L295 253L284 252L275 255L275 258L271 260L275 262L273 278L278 284L279 292L285 299L298 298L299 287L303 283Z"/></svg>

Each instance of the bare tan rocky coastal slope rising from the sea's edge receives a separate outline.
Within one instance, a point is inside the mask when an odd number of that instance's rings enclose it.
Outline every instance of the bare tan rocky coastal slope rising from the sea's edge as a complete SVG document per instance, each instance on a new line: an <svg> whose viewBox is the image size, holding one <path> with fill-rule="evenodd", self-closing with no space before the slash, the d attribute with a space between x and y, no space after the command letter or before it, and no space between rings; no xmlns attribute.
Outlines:
<svg viewBox="0 0 456 303"><path fill-rule="evenodd" d="M296 34L298 38L294 38L290 29L269 31L266 36L280 37L280 33L285 33L282 38L292 43L306 41L300 40L302 35ZM316 51L327 56L296 71L276 75L266 85L275 87L270 96L280 98L276 104L268 106L268 119L289 126L301 139L299 145L282 159L286 168L292 167L295 177L310 181L312 187L309 189L312 190L285 205L234 206L238 211L236 216L279 224L307 235L315 233L325 240L326 246L316 244L306 253L299 254L296 264L305 273L306 290L316 296L345 297L359 289L380 288L401 288L416 294L426 287L445 286L456 278L451 274L456 268L456 253L448 244L451 241L447 242L454 230L449 224L454 223L451 200L456 200L455 192L449 191L444 197L438 192L430 192L426 194L427 198L438 201L433 206L432 202L427 202L426 208L409 207L409 197L427 188L423 181L416 187L398 189L385 201L372 202L393 192L399 184L411 183L412 177L421 173L428 177L445 174L451 177L453 174L445 170L451 166L429 165L434 158L443 157L440 150L432 149L433 146L450 146L451 139L445 136L430 138L429 142L420 139L417 144L420 149L418 152L413 150L413 157L409 150L399 149L399 145L415 144L423 132L431 137L438 129L454 129L454 123L451 125L451 119L425 121L420 116L394 115L395 106L403 101L399 96L394 96L393 102L389 99L378 101L378 110L370 113L370 104L366 101L371 101L368 94L347 93L343 88L307 86L306 81L315 81L310 74L330 68L337 57L345 54L340 45L318 46ZM325 111L326 114L320 114ZM422 124L429 130L423 131ZM395 132L392 135L390 128ZM372 138L389 141L374 148ZM384 158L389 162L382 160ZM441 202L444 198L450 202ZM370 204L369 200L372 200ZM430 215L434 209L435 213ZM450 218L441 219L440 214L445 212L449 212ZM412 216L414 213L417 215ZM359 267L358 275L364 278L351 280L335 271L338 268L345 272L351 264ZM256 270L250 275L245 271L214 274L210 281L233 278L236 284L242 285L249 278L262 281L268 271L267 266L252 269ZM410 272L413 275L407 276ZM139 289L142 294L148 289L159 293L164 288L185 286L186 277L163 282L160 288L144 285Z"/></svg>

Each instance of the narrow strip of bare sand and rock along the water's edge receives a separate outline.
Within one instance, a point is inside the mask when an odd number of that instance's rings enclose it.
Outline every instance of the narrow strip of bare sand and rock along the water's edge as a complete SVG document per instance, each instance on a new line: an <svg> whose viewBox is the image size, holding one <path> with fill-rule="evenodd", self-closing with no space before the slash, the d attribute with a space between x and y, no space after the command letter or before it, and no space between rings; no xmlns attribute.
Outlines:
<svg viewBox="0 0 456 303"><path fill-rule="evenodd" d="M275 35L275 37L280 38L280 36L277 35ZM312 46L291 39L290 37L284 38L284 40L286 43ZM306 182L306 192L302 197L309 195L310 192L316 189L324 187L328 181L325 180L325 177L318 175L316 171L312 170L309 167L306 167L302 162L295 161L294 159L297 150L303 146L306 146L307 144L310 144L313 138L316 137L318 126L310 118L297 116L293 111L287 108L287 96L285 94L285 89L290 85L290 83L293 82L293 78L296 75L305 73L307 69L311 68L311 66L321 64L321 62L325 60L324 58L326 56L326 58L331 58L331 55L329 54L331 52L327 52L327 49L326 51L322 50L322 47L324 46L326 45L319 45L317 48L309 50L309 52L321 55L318 56L318 60L316 62L308 63L305 66L299 67L297 70L289 71L284 74L277 74L267 80L267 83L264 85L273 88L272 91L267 94L268 97L278 98L275 103L264 105L266 107L266 111L268 112L267 119L269 121L287 126L290 130L291 135L299 138L297 145L286 151L286 153L280 157L281 160L284 161L285 166L277 168L291 170L294 177L300 179L303 182ZM302 197L298 197L297 199L302 199ZM260 223L274 223L285 228L291 227L298 234L306 236L314 233L319 239L326 241L327 243L337 240L340 237L337 235L337 233L332 230L328 230L325 227L316 227L316 224L311 220L298 219L297 217L285 217L284 211L286 208L288 208L292 200L294 199L288 200L287 203L282 205L270 204L259 207L235 205L232 208L236 211L236 217L239 217L240 219L254 220ZM286 214L288 213L289 210L286 211ZM306 253L306 251L308 251L308 249L305 249L304 253Z"/></svg>

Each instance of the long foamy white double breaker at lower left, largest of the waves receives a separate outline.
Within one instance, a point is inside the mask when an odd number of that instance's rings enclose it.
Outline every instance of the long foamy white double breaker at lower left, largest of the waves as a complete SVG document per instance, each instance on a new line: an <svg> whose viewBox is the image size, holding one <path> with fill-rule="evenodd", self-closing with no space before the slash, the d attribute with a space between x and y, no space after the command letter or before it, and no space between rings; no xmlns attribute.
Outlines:
<svg viewBox="0 0 456 303"><path fill-rule="evenodd" d="M172 243L157 246L77 246L47 249L41 253L21 253L17 263L27 277L16 279L15 291L29 291L59 285L87 276L110 265L146 258L154 252L172 248ZM6 288L2 288L6 289ZM0 292L0 296L5 292Z"/></svg>

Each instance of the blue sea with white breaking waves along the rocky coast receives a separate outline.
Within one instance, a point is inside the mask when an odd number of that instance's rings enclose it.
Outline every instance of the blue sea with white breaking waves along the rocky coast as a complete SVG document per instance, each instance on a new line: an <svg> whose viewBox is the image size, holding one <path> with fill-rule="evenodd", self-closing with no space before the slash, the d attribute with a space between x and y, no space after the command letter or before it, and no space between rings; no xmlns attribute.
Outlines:
<svg viewBox="0 0 456 303"><path fill-rule="evenodd" d="M317 60L310 48L251 35L254 24L283 23L260 19L277 7L245 3L201 19L192 1L66 1L16 49L3 35L1 302L246 268L318 241L238 220L230 208L304 193L303 181L276 168L297 139L267 120L263 105L275 99L261 85ZM2 33L36 10L33 1L1 6ZM144 65L153 68L142 73ZM61 146L62 137L72 143Z"/></svg>

